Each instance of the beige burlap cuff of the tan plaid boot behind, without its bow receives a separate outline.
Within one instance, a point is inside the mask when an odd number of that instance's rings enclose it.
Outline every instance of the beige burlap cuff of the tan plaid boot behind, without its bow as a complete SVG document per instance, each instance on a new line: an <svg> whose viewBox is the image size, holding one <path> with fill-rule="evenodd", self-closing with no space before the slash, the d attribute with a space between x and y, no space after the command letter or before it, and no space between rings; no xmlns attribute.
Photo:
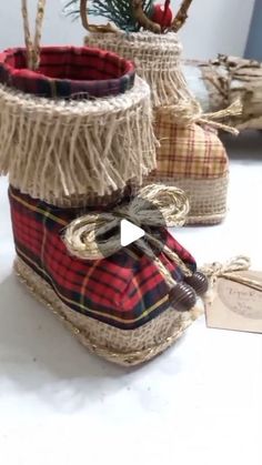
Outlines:
<svg viewBox="0 0 262 465"><path fill-rule="evenodd" d="M84 42L89 47L111 50L133 60L138 74L151 88L154 108L179 105L181 113L193 112L196 102L181 70L182 47L175 33L159 36L148 31L118 34L94 32L87 36Z"/></svg>

